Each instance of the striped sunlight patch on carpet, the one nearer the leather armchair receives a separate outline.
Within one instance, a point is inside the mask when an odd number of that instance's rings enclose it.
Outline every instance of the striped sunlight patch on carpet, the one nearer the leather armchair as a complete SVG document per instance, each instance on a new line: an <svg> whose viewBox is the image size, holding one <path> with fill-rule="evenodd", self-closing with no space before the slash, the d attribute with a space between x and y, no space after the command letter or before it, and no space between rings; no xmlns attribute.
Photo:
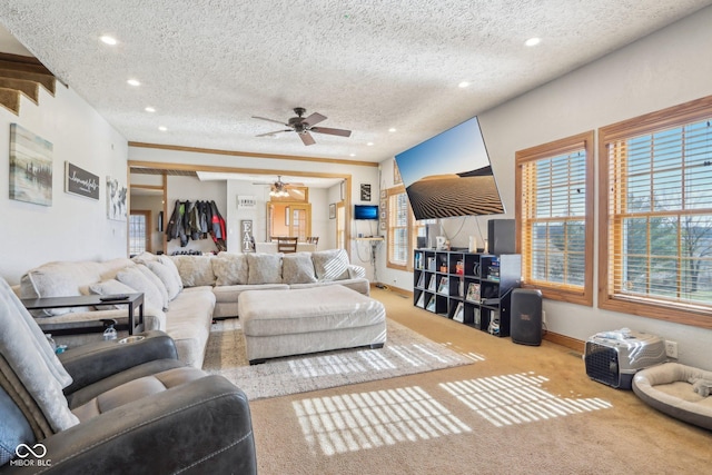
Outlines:
<svg viewBox="0 0 712 475"><path fill-rule="evenodd" d="M472 432L419 386L308 398L293 406L307 443L325 455Z"/></svg>

